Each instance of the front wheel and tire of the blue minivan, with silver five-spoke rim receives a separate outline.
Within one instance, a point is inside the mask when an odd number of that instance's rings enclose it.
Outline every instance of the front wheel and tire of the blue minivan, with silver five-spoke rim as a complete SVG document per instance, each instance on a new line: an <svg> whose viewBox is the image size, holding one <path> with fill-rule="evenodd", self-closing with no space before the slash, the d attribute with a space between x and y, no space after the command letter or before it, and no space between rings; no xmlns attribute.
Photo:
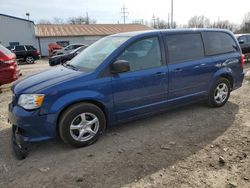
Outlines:
<svg viewBox="0 0 250 188"><path fill-rule="evenodd" d="M90 103L79 103L69 107L60 117L59 135L73 146L84 147L98 140L106 128L103 111Z"/></svg>

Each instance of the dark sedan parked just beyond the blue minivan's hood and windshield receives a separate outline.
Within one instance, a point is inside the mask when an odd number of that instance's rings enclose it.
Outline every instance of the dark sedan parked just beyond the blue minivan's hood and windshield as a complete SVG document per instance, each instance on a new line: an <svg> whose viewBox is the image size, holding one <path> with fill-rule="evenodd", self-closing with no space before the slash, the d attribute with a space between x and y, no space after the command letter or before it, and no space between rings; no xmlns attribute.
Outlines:
<svg viewBox="0 0 250 188"><path fill-rule="evenodd" d="M83 51L87 46L81 46L73 51L66 52L61 55L54 55L49 58L49 65L55 66L62 63L66 63L67 61L71 60L73 57L78 55L81 51Z"/></svg>

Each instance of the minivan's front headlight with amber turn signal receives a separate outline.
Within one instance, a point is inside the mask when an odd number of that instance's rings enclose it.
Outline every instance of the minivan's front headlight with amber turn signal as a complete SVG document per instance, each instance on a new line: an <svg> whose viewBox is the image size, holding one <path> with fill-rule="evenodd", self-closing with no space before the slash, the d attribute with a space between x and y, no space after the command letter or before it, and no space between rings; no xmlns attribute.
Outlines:
<svg viewBox="0 0 250 188"><path fill-rule="evenodd" d="M26 110L40 108L43 104L44 94L22 94L18 99L18 105Z"/></svg>

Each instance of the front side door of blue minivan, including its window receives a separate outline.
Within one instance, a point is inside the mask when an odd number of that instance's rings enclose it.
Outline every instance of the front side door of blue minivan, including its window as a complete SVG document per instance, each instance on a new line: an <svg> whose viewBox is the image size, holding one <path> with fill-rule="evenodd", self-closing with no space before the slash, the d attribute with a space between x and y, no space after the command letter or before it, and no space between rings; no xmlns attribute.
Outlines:
<svg viewBox="0 0 250 188"><path fill-rule="evenodd" d="M134 42L117 59L130 65L129 72L112 77L117 119L139 116L167 101L167 67L158 36Z"/></svg>

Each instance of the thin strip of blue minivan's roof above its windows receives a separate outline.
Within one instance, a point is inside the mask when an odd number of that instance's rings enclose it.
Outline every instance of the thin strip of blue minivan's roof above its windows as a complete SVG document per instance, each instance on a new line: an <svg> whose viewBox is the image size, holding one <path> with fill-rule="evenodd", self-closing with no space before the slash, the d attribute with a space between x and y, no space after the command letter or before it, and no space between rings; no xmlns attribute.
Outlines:
<svg viewBox="0 0 250 188"><path fill-rule="evenodd" d="M209 28L188 28L188 29L158 29L158 30L146 30L146 31L134 31L134 32L127 32L127 33L118 33L111 36L127 36L133 37L137 35L144 35L144 34L158 34L158 33L193 33L193 32L226 32L231 33L231 31L226 29L209 29Z"/></svg>

